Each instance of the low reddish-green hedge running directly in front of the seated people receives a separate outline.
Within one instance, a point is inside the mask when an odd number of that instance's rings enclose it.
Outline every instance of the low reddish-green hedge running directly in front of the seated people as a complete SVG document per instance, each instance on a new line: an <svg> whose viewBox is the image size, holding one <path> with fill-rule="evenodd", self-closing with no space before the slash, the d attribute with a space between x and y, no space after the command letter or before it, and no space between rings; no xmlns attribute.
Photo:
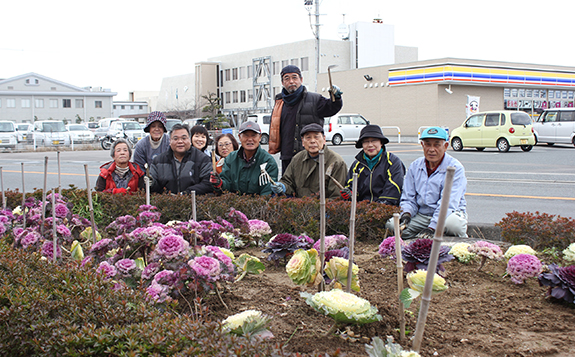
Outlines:
<svg viewBox="0 0 575 357"><path fill-rule="evenodd" d="M73 212L89 218L86 190L77 188L63 189L62 194L74 205ZM42 199L42 190L36 190L27 196ZM6 193L8 206L19 206L22 195L17 190ZM123 215L136 215L138 207L145 204L145 194L112 195L93 192L95 221L100 230ZM161 222L172 220L187 221L192 218L191 196L153 194L150 203L162 213ZM223 194L220 196L196 196L197 220L215 220L224 217L231 207L243 212L249 219L268 222L274 234L306 233L310 237L319 237L320 204L317 196L304 198L286 198L269 196L248 196ZM326 235L349 235L349 216L351 202L340 199L327 200ZM361 201L357 203L355 237L358 240L381 241L385 237L385 223L399 212L399 208L380 203Z"/></svg>

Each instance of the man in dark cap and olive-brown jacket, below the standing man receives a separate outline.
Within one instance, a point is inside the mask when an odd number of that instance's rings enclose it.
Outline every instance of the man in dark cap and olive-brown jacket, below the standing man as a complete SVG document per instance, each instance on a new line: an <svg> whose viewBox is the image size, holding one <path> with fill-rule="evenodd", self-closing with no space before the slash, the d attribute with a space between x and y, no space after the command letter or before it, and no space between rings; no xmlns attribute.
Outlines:
<svg viewBox="0 0 575 357"><path fill-rule="evenodd" d="M325 145L323 127L312 123L303 127L301 139L304 151L298 152L289 164L281 180L272 190L276 194L285 193L288 196L305 197L319 193L319 151L324 152L326 170L333 164L331 176L340 183L345 183L347 165L338 153ZM332 179L326 176L325 197L338 198L339 188Z"/></svg>

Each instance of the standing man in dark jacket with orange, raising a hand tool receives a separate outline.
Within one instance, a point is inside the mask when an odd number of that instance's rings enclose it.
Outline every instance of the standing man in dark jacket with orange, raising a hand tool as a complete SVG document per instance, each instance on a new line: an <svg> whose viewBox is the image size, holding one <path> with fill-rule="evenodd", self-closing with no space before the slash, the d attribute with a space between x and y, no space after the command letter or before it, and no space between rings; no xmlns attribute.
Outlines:
<svg viewBox="0 0 575 357"><path fill-rule="evenodd" d="M331 83L329 68L328 74ZM269 153L281 152L283 174L294 155L303 150L300 136L303 127L311 123L323 127L325 117L331 117L341 110L343 92L334 85L329 89L330 98L308 92L302 85L300 69L294 65L285 66L280 76L283 90L275 98L270 124Z"/></svg>

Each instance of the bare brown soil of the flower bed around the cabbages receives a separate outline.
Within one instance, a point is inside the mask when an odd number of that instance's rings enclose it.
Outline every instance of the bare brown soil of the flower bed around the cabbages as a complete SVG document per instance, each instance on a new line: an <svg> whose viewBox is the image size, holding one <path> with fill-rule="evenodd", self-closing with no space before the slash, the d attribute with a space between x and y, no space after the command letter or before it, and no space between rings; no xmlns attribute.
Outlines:
<svg viewBox="0 0 575 357"><path fill-rule="evenodd" d="M273 316L270 331L274 342L289 352L367 356L365 344L372 337L393 336L404 349L412 348L421 298L405 313L407 337L400 341L397 269L394 260L382 259L377 245L357 243L355 262L360 268L361 292L383 317L380 322L347 326L325 336L333 320L316 312L299 296L317 289L296 286L285 272L285 263L268 262L262 248L247 252L261 259L266 270L229 284L222 294L228 309L218 299L209 299L214 317L224 319L246 309ZM488 261L444 264L449 289L434 295L423 334L422 356L575 356L575 309L573 305L546 298L546 288L537 279L516 285L505 274L505 262ZM404 281L405 286L407 282ZM351 331L351 333L350 333Z"/></svg>

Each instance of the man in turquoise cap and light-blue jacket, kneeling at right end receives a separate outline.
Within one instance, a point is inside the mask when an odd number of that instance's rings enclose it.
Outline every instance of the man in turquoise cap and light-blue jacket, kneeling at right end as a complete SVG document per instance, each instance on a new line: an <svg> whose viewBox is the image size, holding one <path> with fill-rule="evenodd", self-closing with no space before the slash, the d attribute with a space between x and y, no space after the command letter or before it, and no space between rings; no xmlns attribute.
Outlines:
<svg viewBox="0 0 575 357"><path fill-rule="evenodd" d="M404 228L402 238L432 239L437 227L439 207L443 196L447 167L455 167L453 187L449 199L445 233L467 237L467 213L465 190L467 178L461 163L447 154L449 137L447 132L432 126L420 137L424 157L411 163L403 183L400 207L400 226Z"/></svg>

